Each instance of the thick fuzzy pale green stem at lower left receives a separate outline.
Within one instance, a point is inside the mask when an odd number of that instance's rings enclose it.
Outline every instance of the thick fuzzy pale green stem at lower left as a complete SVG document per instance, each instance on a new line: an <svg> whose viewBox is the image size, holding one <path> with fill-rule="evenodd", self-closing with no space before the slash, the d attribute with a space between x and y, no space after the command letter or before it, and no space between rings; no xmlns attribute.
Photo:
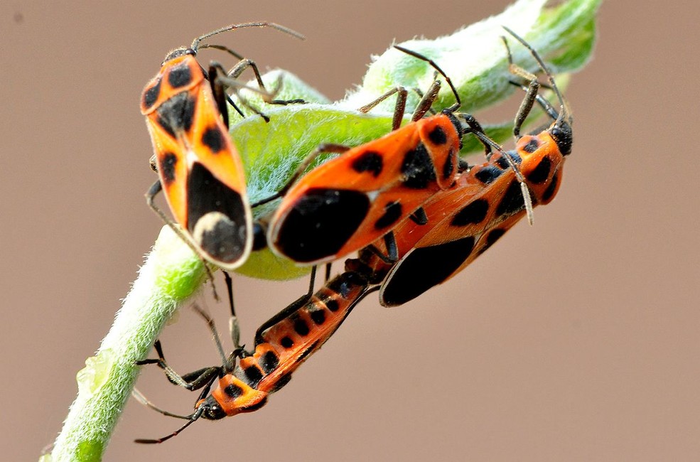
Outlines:
<svg viewBox="0 0 700 462"><path fill-rule="evenodd" d="M77 373L78 395L55 441L53 461L99 461L126 404L134 365L178 307L201 286L202 261L165 226L97 354Z"/></svg>

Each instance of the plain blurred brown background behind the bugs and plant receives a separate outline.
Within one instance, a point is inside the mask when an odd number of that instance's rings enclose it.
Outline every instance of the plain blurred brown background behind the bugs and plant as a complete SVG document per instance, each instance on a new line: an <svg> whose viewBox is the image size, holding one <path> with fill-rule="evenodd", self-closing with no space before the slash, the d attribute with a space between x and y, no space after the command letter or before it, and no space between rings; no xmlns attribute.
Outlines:
<svg viewBox="0 0 700 462"><path fill-rule="evenodd" d="M3 459L36 460L53 441L161 227L144 203L138 102L168 50L231 22L284 23L308 40L222 43L335 99L392 39L507 4L2 1ZM697 14L688 1L603 4L593 62L568 92L566 180L534 227L406 306L370 297L261 412L137 446L180 421L129 402L105 460L697 460ZM237 278L244 340L303 286ZM225 328L225 309L208 308ZM177 370L217 362L189 310L163 342ZM195 400L156 370L139 387L173 412Z"/></svg>

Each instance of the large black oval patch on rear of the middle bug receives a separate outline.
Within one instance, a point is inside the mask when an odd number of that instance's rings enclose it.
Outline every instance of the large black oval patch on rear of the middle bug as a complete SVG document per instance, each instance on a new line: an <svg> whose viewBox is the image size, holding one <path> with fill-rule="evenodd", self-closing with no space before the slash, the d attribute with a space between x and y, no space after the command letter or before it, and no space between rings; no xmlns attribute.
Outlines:
<svg viewBox="0 0 700 462"><path fill-rule="evenodd" d="M282 220L276 246L296 262L337 254L370 210L370 199L355 190L311 188Z"/></svg>

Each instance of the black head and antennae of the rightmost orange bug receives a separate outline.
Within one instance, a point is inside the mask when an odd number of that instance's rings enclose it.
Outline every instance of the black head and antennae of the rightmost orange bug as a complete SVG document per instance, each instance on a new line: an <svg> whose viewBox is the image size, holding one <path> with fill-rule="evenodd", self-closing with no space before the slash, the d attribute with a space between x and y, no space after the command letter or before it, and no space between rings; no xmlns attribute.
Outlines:
<svg viewBox="0 0 700 462"><path fill-rule="evenodd" d="M549 114L552 119L554 119L554 122L551 123L549 129L546 131L549 133L549 136L554 139L554 142L556 143L556 146L561 154L563 156L568 156L571 154L571 145L574 141L574 131L571 128L571 125L574 123L574 117L571 115L569 103L566 102L564 95L562 95L559 87L556 85L554 76L551 74L549 68L547 68L547 66L544 64L544 60L542 59L542 56L537 53L537 50L532 48L532 45L527 43L524 38L517 35L517 33L510 30L510 28L507 28L506 26L503 26L503 28L507 33L515 38L515 40L529 50L532 57L537 61L540 70L542 70L544 75L546 75L549 82L549 87L551 87L554 95L556 95L556 99L559 100L559 111L556 111L556 109L554 109L554 107L552 107L552 105L540 95L537 95L536 98L537 102L544 108L544 111ZM505 41L505 38L504 42L507 47L507 41ZM510 59L510 50L508 50L508 55Z"/></svg>

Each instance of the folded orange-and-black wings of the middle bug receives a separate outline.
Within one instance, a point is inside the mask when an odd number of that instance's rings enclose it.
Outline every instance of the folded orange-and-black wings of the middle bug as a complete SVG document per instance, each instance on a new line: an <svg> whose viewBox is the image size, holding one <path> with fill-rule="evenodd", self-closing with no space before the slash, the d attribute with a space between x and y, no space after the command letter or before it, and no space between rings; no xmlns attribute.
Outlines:
<svg viewBox="0 0 700 462"><path fill-rule="evenodd" d="M422 125L350 149L304 176L271 219L271 247L296 262L318 264L366 247L404 222L441 190L436 146L421 139ZM456 159L458 146L455 135L438 148Z"/></svg>

